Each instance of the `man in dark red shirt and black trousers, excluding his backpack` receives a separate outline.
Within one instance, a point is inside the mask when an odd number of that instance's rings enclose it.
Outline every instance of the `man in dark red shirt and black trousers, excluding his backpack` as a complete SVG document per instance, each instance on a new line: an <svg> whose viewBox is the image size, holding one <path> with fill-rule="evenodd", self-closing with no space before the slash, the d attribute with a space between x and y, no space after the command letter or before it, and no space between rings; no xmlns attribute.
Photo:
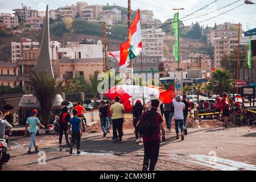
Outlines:
<svg viewBox="0 0 256 182"><path fill-rule="evenodd" d="M144 159L143 159L143 171L147 171L148 164L150 171L154 171L155 165L158 162L158 156L159 156L159 148L160 148L160 129L162 130L162 140L163 142L166 140L165 137L165 130L163 126L163 117L160 113L158 113L157 108L159 106L159 100L154 99L151 101L151 109L148 111L154 111L156 112L155 115L155 130L152 135L142 135L143 138L143 146L144 146ZM139 126L139 123L141 122L142 118L144 117L145 113L148 112L145 111L142 113L141 118L139 118L139 121L137 123L137 127Z"/></svg>

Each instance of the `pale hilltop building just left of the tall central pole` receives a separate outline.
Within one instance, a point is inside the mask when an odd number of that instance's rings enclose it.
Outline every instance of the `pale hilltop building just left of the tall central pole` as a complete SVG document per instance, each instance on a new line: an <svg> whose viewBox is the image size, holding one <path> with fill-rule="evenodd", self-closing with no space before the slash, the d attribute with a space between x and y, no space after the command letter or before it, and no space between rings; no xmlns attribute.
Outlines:
<svg viewBox="0 0 256 182"><path fill-rule="evenodd" d="M100 11L101 22L108 22L109 24L117 23L121 20L121 11L114 8L112 10L102 10Z"/></svg>

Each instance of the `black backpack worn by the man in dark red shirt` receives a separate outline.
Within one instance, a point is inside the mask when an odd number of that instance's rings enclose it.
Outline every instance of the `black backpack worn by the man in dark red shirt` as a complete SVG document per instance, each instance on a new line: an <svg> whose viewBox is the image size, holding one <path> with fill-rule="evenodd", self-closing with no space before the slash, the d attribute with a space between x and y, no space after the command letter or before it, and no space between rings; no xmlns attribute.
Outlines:
<svg viewBox="0 0 256 182"><path fill-rule="evenodd" d="M142 135L152 135L155 131L155 116L158 114L156 110L147 110L141 122L138 125L138 131Z"/></svg>

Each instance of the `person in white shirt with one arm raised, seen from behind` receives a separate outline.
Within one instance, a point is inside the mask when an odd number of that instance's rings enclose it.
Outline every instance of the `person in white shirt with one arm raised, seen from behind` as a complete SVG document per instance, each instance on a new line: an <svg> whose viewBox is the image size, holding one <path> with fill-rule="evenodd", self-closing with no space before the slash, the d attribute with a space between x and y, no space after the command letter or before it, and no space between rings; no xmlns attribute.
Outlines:
<svg viewBox="0 0 256 182"><path fill-rule="evenodd" d="M184 127L183 127L183 109L185 109L185 104L181 102L181 97L178 95L176 99L172 95L172 102L174 104L174 120L175 120L175 130L176 130L176 139L179 139L179 125L180 125L180 132L181 132L181 140L184 140Z"/></svg>

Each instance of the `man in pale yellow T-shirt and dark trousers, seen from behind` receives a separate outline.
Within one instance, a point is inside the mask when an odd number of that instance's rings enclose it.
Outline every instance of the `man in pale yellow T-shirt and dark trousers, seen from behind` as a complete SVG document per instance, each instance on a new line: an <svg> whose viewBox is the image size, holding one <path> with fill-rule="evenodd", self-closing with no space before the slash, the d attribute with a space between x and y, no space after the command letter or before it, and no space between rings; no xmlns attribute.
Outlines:
<svg viewBox="0 0 256 182"><path fill-rule="evenodd" d="M110 113L113 115L113 137L115 143L118 142L118 140L119 143L121 143L123 136L123 114L125 114L125 108L119 101L120 97L115 97L115 103L110 107Z"/></svg>

